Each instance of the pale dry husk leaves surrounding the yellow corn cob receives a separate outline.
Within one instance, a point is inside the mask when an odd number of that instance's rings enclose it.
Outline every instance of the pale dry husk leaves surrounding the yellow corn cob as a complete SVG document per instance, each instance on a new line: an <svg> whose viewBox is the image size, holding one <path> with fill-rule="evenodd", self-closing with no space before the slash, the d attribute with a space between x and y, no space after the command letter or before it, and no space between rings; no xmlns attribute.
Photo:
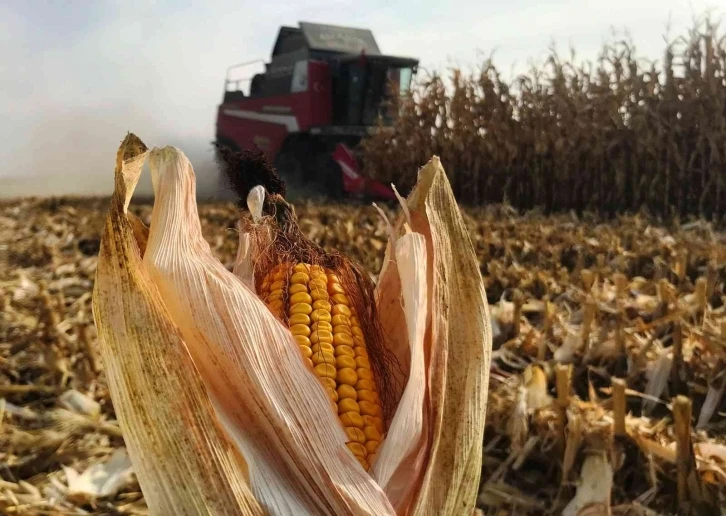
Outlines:
<svg viewBox="0 0 726 516"><path fill-rule="evenodd" d="M129 155L131 148L135 152ZM139 410L124 404L135 382L150 381L146 364L133 358L156 352L154 346L144 349L145 341L153 341L166 352L183 355L178 362L187 364L188 370L175 371L174 381L188 377L190 386L200 391L195 395L203 397L198 402L203 410L199 417L218 434L220 426L223 429L219 437L238 470L230 466L227 476L198 482L195 477L192 482L233 498L236 505L227 505L232 513L260 508L275 515L406 514L412 507L415 512L436 514L460 514L462 507L473 510L479 468L472 465L481 460L491 332L476 258L438 161L422 170L422 188L403 210L405 234L392 234L398 278L393 298L400 298L403 320L399 322L405 329L395 347L407 356L408 368L398 410L368 474L347 449L348 438L322 385L300 359L289 330L254 292L251 262L259 252L259 240L240 234L230 272L202 236L194 172L184 154L172 147L148 152L132 135L119 152L125 159L119 158L116 202L109 221L121 222L109 227L104 243L123 237L130 250L121 254L111 249L103 266L99 264L96 319L104 361L114 380L112 395L122 407L122 427L139 436L129 448L134 463L141 461L142 488L167 486L170 480L165 475L171 469L163 468L176 467L177 458L186 453L200 459L220 454L215 442L191 442L188 450L168 459L159 443L143 438L145 425L139 413L165 403L168 410L172 392L157 389ZM155 193L149 230L126 216L147 157ZM247 201L253 219L259 220L261 190L253 189ZM136 303L124 304L130 302L124 289L133 281L118 268L130 269L149 291L141 315ZM465 281L467 274L471 276ZM384 278L379 290L386 284ZM463 313L448 310L453 299L467 304ZM117 310L112 313L114 306ZM144 310L163 316L164 325L142 319ZM145 333L136 337L130 327L143 327ZM121 346L134 338L132 352L122 355ZM466 366L450 367L451 359ZM149 361L156 363L151 357ZM166 360L159 366L162 370L154 374L164 381L169 380L164 367L178 368ZM182 390L181 399L186 396ZM187 427L190 433L197 431L192 422ZM161 443L171 444L163 425L155 431L164 434L159 436ZM177 439L189 442L181 435ZM155 457L161 471L143 462L147 448L147 456ZM436 485L430 475L436 476ZM444 482L443 490L439 480ZM150 507L186 511L192 503L173 493Z"/></svg>

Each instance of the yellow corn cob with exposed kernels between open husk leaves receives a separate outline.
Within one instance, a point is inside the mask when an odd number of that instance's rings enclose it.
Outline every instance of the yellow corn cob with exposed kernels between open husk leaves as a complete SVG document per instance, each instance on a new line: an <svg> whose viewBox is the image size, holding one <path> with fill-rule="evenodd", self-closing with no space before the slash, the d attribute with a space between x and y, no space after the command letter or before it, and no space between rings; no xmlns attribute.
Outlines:
<svg viewBox="0 0 726 516"><path fill-rule="evenodd" d="M383 438L383 411L365 336L340 279L317 265L280 264L263 278L258 292L287 323L330 397L348 434L348 448L367 470Z"/></svg>

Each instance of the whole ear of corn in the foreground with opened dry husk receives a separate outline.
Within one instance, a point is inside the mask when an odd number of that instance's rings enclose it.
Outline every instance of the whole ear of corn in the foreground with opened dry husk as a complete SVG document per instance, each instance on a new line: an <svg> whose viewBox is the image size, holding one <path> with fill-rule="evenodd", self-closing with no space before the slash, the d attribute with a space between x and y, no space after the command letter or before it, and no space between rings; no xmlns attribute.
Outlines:
<svg viewBox="0 0 726 516"><path fill-rule="evenodd" d="M147 158L148 229L127 212ZM438 159L401 199L377 286L302 236L269 177L237 192L252 217L230 272L184 154L119 150L94 315L152 512L471 513L491 330Z"/></svg>

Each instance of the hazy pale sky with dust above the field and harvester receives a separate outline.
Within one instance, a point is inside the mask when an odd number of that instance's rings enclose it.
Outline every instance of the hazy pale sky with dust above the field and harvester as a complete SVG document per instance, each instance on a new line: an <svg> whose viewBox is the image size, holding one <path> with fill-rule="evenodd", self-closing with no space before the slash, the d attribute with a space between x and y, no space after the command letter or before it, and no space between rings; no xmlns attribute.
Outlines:
<svg viewBox="0 0 726 516"><path fill-rule="evenodd" d="M210 142L228 66L270 57L281 25L368 28L385 54L421 68L472 67L494 51L502 71L541 61L551 43L594 59L612 29L659 58L704 0L0 1L0 197L107 195L128 131L174 145L214 196ZM670 29L668 26L670 25ZM142 178L139 192L150 193Z"/></svg>

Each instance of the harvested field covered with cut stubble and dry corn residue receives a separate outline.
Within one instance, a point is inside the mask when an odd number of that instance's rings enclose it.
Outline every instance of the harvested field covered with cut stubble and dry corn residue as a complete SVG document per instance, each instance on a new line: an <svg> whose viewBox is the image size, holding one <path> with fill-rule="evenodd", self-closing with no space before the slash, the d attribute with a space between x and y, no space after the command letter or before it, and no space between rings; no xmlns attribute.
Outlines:
<svg viewBox="0 0 726 516"><path fill-rule="evenodd" d="M0 510L146 514L96 350L106 201L0 205ZM133 207L147 224L151 207ZM300 205L316 242L378 271L370 206ZM389 215L392 210L386 208ZM726 506L726 237L705 222L466 210L495 327L485 514ZM200 206L223 263L237 211ZM592 511L592 512L589 512Z"/></svg>

